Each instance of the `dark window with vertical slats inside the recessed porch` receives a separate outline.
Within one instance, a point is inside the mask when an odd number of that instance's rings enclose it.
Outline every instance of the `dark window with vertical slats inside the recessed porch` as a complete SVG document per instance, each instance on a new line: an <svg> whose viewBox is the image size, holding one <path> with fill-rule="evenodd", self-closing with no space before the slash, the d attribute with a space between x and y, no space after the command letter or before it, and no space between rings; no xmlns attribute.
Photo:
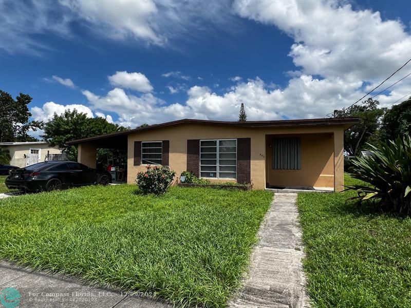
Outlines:
<svg viewBox="0 0 411 308"><path fill-rule="evenodd" d="M301 169L301 138L273 138L273 169Z"/></svg>

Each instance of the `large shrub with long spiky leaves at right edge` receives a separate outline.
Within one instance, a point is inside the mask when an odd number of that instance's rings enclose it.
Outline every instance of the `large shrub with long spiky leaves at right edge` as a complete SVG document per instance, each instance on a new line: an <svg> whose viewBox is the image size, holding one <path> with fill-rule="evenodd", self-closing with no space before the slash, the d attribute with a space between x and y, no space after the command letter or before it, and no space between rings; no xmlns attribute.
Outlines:
<svg viewBox="0 0 411 308"><path fill-rule="evenodd" d="M381 142L371 147L372 156L352 161L351 176L370 184L346 186L357 190L359 203L375 201L382 210L411 213L411 138Z"/></svg>

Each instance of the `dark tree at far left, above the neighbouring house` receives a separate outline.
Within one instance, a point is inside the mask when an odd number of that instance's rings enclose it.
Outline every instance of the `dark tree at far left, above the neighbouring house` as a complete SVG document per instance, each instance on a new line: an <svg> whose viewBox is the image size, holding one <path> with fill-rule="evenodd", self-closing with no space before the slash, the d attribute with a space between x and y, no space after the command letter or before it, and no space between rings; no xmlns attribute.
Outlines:
<svg viewBox="0 0 411 308"><path fill-rule="evenodd" d="M43 127L41 121L29 121L31 113L27 105L31 101L30 95L20 93L14 100L9 93L0 90L0 142L37 140L27 133Z"/></svg>

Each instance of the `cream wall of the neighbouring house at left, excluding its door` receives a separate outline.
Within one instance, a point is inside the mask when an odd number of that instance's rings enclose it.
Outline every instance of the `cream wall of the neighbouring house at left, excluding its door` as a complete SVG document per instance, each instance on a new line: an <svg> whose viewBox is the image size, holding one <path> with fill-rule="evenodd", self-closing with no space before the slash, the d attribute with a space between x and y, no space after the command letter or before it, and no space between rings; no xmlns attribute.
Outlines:
<svg viewBox="0 0 411 308"><path fill-rule="evenodd" d="M40 149L39 151L39 162L44 161L47 151L50 154L60 154L61 150L58 147L50 147L47 143L40 143L40 144L17 144L17 145L7 145L2 146L10 151L11 161L10 165L17 166L17 167L25 167L26 166L26 158L24 155L28 155L30 153L30 148L32 149Z"/></svg>

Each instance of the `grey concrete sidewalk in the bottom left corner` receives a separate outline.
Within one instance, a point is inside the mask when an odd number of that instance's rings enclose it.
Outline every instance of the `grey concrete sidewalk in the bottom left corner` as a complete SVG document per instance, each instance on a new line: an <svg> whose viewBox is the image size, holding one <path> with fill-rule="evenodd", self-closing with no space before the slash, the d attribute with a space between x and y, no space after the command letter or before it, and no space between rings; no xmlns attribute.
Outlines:
<svg viewBox="0 0 411 308"><path fill-rule="evenodd" d="M139 292L121 293L92 287L59 275L33 272L0 261L0 307L166 308Z"/></svg>

